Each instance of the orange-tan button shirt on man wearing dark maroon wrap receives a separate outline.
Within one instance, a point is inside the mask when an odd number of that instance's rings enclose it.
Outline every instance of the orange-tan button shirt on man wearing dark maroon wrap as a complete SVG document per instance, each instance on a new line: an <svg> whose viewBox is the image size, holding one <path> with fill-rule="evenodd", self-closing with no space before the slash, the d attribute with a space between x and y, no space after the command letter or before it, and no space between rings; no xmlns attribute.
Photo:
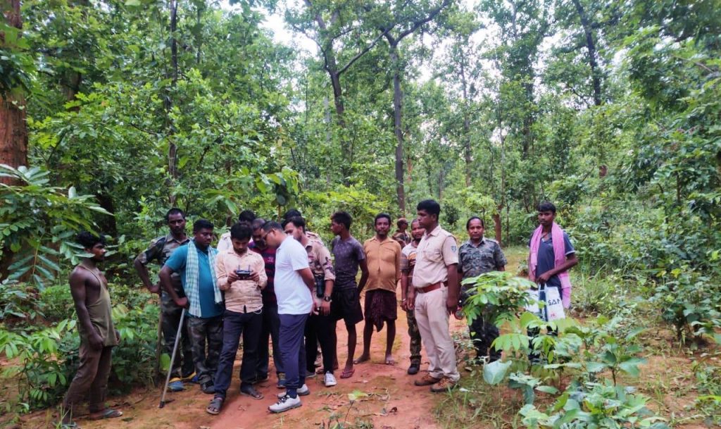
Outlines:
<svg viewBox="0 0 721 429"><path fill-rule="evenodd" d="M366 291L383 289L395 292L401 278L401 245L391 238L381 242L373 236L363 243L363 252L368 264Z"/></svg>

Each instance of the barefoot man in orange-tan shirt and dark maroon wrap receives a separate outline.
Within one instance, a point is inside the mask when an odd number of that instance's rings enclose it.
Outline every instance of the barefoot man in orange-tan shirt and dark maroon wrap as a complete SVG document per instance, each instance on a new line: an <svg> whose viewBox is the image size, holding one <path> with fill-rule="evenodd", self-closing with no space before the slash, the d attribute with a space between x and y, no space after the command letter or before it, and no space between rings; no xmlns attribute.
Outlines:
<svg viewBox="0 0 721 429"><path fill-rule="evenodd" d="M363 243L368 265L368 281L366 282L366 309L363 311L366 324L363 327L363 353L355 363L368 361L371 358L371 338L373 327L378 332L386 330L386 365L393 365L393 340L396 337L396 319L398 303L396 286L401 278L401 247L394 239L389 238L391 216L387 213L376 215L374 227L376 235ZM361 289L363 285L361 285Z"/></svg>

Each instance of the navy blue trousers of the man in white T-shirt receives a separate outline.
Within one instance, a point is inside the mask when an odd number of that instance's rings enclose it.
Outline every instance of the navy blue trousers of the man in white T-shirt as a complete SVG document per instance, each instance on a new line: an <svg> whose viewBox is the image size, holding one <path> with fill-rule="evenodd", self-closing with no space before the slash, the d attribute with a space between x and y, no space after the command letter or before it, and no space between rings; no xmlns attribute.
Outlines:
<svg viewBox="0 0 721 429"><path fill-rule="evenodd" d="M308 314L278 314L280 358L286 370L286 391L291 397L306 383L306 348L303 334ZM315 345L312 345L315 347Z"/></svg>

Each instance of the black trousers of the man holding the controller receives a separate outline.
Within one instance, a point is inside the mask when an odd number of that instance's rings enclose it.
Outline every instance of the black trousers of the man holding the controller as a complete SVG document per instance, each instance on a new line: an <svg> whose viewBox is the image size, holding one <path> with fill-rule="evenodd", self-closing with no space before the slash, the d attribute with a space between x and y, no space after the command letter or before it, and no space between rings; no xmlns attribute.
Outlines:
<svg viewBox="0 0 721 429"><path fill-rule="evenodd" d="M262 324L262 310L236 313L226 310L223 320L223 349L218 360L215 387L216 397L225 397L233 377L233 363L243 335L243 363L240 366L240 386L250 386L255 380L257 348Z"/></svg>

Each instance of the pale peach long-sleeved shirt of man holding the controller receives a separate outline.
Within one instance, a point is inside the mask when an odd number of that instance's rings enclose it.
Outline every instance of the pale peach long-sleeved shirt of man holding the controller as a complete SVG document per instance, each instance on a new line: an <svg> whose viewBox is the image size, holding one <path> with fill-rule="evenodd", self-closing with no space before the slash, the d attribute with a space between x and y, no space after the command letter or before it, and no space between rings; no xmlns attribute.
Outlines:
<svg viewBox="0 0 721 429"><path fill-rule="evenodd" d="M228 287L228 274L234 270L250 269L258 273L260 281L236 280L231 283L230 288L225 291L226 309L236 313L258 311L263 308L263 300L260 290L267 285L265 274L265 262L256 252L248 249L242 256L234 249L218 253L216 256L216 277L218 288L221 290Z"/></svg>

